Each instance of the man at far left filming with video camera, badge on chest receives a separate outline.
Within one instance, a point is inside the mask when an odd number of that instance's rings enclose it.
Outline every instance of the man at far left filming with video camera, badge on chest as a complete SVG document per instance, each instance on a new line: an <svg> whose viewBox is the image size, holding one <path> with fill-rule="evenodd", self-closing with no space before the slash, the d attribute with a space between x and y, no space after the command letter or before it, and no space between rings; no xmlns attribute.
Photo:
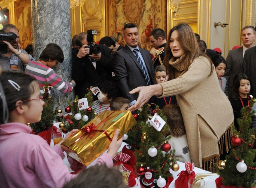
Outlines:
<svg viewBox="0 0 256 188"><path fill-rule="evenodd" d="M7 37L6 40L2 40L2 44L0 44L3 48L7 45L7 53L4 52L5 50L2 50L2 48L0 48L0 65L2 66L2 69L4 71L24 71L24 65L29 63L31 60L34 60L34 58L31 55L27 54L25 50L19 49L18 28L13 24L5 24L3 25L3 29L0 32L10 34L10 37ZM10 32L14 34L11 34ZM17 36L17 38L15 38L15 35ZM3 52L5 54L3 54Z"/></svg>

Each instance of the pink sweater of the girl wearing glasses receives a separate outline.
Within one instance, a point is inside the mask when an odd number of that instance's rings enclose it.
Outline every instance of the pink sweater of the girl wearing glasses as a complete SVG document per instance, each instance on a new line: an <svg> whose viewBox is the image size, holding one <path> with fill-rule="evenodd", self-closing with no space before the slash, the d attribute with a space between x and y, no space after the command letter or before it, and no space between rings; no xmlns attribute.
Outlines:
<svg viewBox="0 0 256 188"><path fill-rule="evenodd" d="M61 148L51 148L31 128L22 123L0 125L0 182L1 187L63 187L75 178L63 163ZM62 157L61 157L62 156ZM104 154L97 163L113 166L111 157Z"/></svg>

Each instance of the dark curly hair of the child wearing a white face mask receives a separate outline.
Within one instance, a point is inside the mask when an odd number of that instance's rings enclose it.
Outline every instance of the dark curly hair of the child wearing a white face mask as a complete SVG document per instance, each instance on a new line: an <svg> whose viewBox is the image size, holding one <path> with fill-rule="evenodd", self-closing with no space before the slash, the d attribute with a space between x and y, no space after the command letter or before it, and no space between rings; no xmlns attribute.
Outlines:
<svg viewBox="0 0 256 188"><path fill-rule="evenodd" d="M107 79L99 84L99 89L102 93L107 93L107 98L119 97L119 89L117 83L113 79Z"/></svg>

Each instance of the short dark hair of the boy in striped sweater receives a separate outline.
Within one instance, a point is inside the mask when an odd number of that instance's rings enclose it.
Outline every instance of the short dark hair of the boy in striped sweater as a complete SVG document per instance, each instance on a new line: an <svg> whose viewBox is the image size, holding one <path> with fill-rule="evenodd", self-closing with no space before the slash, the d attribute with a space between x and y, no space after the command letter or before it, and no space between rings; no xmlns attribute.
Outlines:
<svg viewBox="0 0 256 188"><path fill-rule="evenodd" d="M59 63L62 63L64 60L63 50L57 44L49 43L40 54L39 59L46 62L49 61L49 59L53 61L57 60Z"/></svg>

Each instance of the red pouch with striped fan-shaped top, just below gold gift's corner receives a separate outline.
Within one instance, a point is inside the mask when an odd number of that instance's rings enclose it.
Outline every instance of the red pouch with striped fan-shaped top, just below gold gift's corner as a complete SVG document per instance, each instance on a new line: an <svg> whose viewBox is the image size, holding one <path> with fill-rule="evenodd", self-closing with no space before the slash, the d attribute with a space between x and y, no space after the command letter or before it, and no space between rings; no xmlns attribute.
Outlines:
<svg viewBox="0 0 256 188"><path fill-rule="evenodd" d="M136 172L134 171L133 166L127 164L130 156L125 153L119 153L114 156L114 166L119 166L119 170L122 172L123 177L125 178L125 183L129 187L136 185Z"/></svg>

